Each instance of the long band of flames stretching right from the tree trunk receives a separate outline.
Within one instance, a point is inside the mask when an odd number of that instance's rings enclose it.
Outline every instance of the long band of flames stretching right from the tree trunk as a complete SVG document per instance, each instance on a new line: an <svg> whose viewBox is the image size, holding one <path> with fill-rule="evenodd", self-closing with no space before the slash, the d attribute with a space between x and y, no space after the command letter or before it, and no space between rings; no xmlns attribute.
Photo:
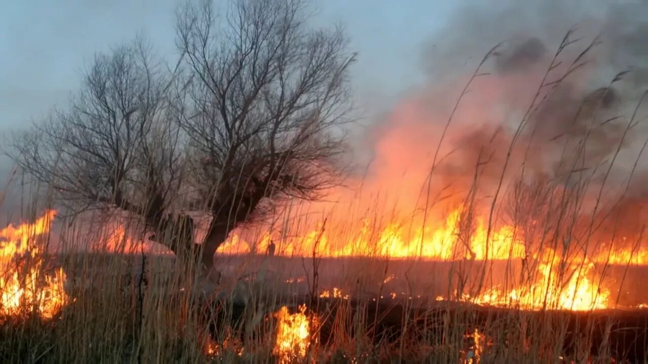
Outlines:
<svg viewBox="0 0 648 364"><path fill-rule="evenodd" d="M604 264L648 263L648 249L631 249L631 244L592 244L598 251L580 247L534 245L526 242L521 229L511 224L493 224L487 218L465 216L461 208L451 209L445 218L429 218L425 225L409 226L395 222L372 227L365 221L356 233L336 233L335 229L313 229L304 234L275 239L277 255L323 257L369 256L389 259L421 259L448 262L478 262L503 260L526 261L526 279L518 284L509 281L507 288L491 286L477 292L465 291L454 297L436 297L437 301L457 299L490 306L516 307L526 310L598 310L608 308L612 302L610 287L601 279L600 266ZM372 233L377 231L377 233ZM288 234L283 234L288 236ZM248 245L247 251L259 251L264 243L273 240L264 233L257 244L248 244L240 234L233 234L226 246ZM624 238L625 240L625 238ZM619 240L620 241L620 240ZM544 244L548 245L548 244ZM242 248L238 248L240 251ZM531 262L533 264L531 265ZM535 271L535 273L533 273ZM516 272L515 275L519 275ZM395 279L389 275L386 284ZM463 289L462 289L463 290ZM391 295L391 294L390 294ZM394 298L394 295L391 295ZM348 299L340 289L325 290L322 298Z"/></svg>

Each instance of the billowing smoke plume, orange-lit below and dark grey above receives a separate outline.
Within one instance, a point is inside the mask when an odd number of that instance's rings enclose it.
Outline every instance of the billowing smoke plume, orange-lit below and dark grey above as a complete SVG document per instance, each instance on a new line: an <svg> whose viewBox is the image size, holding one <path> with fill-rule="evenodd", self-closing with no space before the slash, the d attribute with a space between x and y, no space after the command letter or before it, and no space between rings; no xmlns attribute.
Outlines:
<svg viewBox="0 0 648 364"><path fill-rule="evenodd" d="M607 190L624 190L648 137L646 106L627 130L648 87L645 19L648 5L639 3L496 1L462 8L422 50L424 85L358 142L373 152L369 166L358 168L362 177L354 174L351 188L330 194L336 204L314 209L348 216L346 201L358 190L367 209L376 199L408 211L467 199L489 206L518 179L566 188L588 179L596 190L608 175ZM644 185L642 161L631 190Z"/></svg>

